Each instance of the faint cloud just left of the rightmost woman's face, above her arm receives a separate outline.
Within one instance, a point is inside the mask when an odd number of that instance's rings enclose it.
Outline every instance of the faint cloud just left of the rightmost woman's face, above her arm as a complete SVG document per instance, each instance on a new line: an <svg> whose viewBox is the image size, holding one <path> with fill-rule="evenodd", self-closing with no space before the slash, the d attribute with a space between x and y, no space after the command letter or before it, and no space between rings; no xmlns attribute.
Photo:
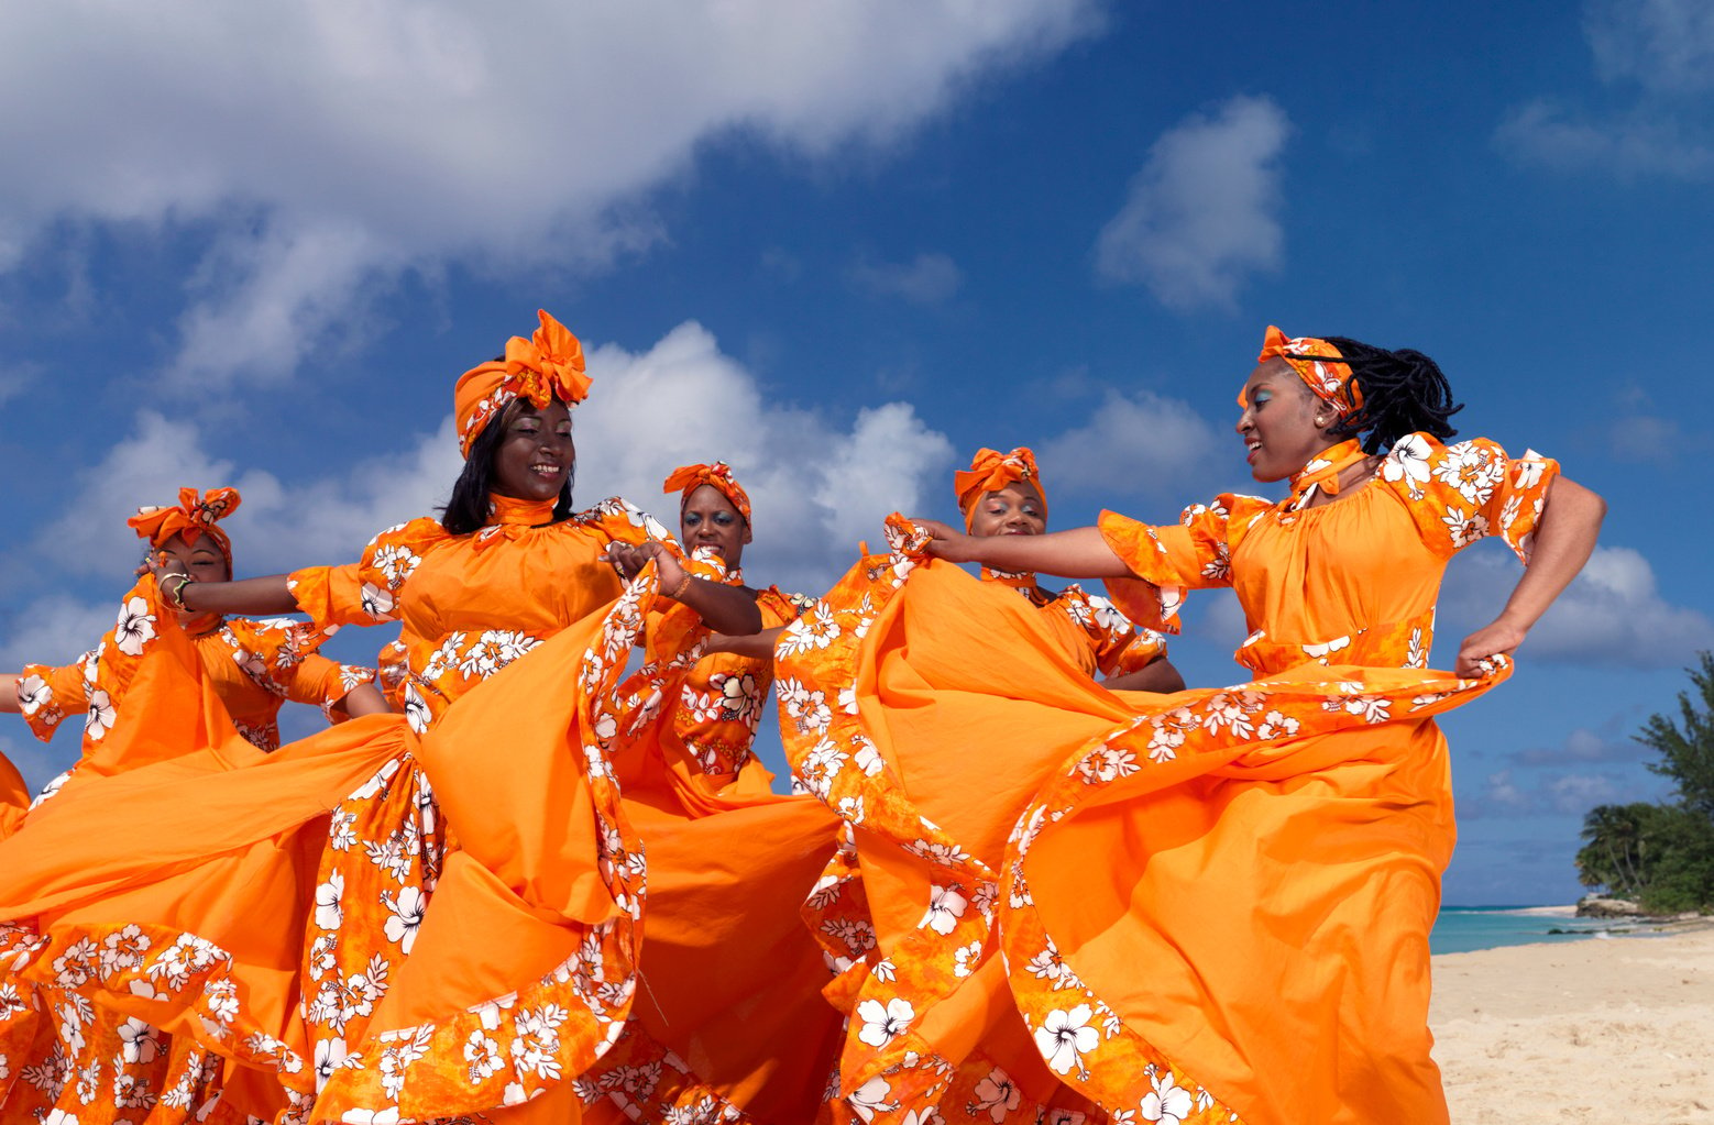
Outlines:
<svg viewBox="0 0 1714 1125"><path fill-rule="evenodd" d="M1220 435L1190 404L1152 390L1107 390L1087 423L1037 449L1052 490L1178 503L1210 498L1214 481L1226 478L1220 466L1243 464L1238 452L1236 435Z"/></svg>

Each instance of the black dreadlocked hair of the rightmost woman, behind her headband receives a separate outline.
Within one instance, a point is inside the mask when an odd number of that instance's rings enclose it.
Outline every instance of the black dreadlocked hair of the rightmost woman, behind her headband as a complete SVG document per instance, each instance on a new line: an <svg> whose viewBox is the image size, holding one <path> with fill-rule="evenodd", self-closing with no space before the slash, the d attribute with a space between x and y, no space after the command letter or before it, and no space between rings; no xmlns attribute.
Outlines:
<svg viewBox="0 0 1714 1125"><path fill-rule="evenodd" d="M1321 339L1339 349L1337 361L1351 368L1351 382L1363 392L1363 406L1333 423L1330 437L1361 437L1363 452L1375 455L1417 430L1441 442L1457 435L1447 420L1464 404L1452 401L1452 384L1438 363L1412 348L1387 351L1344 336Z"/></svg>

